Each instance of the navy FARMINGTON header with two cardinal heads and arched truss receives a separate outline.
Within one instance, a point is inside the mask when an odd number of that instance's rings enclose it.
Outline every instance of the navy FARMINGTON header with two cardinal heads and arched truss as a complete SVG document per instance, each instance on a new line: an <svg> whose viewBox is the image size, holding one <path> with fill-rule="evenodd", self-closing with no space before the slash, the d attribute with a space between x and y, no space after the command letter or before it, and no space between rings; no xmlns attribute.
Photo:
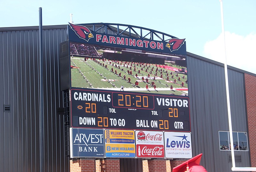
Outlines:
<svg viewBox="0 0 256 172"><path fill-rule="evenodd" d="M76 25L69 23L68 39L69 41L101 46L133 48L151 52L174 53L180 55L187 54L185 39L178 39L172 35L167 35L152 29L131 25L125 25L126 30L121 30L119 29L120 25L115 25L117 28L110 29L110 24L98 23ZM101 30L101 28L103 30ZM135 29L138 32L136 32ZM112 34L109 34L108 31ZM143 31L145 34L142 34Z"/></svg>

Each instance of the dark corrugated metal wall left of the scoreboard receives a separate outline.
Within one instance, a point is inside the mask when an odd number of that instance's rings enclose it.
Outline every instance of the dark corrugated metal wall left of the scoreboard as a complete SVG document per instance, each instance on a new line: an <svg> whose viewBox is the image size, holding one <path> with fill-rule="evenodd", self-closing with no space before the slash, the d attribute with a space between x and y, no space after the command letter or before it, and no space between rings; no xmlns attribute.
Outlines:
<svg viewBox="0 0 256 172"><path fill-rule="evenodd" d="M44 171L69 171L59 90L59 43L66 25L43 27ZM39 30L0 28L0 171L39 171ZM10 112L4 105L10 104Z"/></svg>

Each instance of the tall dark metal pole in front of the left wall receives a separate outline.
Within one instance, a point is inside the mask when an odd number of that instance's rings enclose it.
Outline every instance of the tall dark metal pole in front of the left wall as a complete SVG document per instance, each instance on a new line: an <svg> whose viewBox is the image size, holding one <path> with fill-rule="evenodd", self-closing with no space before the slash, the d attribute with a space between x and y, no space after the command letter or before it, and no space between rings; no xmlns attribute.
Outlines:
<svg viewBox="0 0 256 172"><path fill-rule="evenodd" d="M43 26L42 26L42 7L39 7L39 59L40 59L40 113L39 113L39 128L40 128L40 172L44 171L44 83L43 83Z"/></svg>

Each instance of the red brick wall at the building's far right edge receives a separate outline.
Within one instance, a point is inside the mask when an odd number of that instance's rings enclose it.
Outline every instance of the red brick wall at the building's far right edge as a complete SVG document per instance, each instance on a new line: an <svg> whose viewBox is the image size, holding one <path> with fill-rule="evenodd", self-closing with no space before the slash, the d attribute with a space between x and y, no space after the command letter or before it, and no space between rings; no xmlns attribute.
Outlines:
<svg viewBox="0 0 256 172"><path fill-rule="evenodd" d="M244 74L251 167L256 167L256 76Z"/></svg>

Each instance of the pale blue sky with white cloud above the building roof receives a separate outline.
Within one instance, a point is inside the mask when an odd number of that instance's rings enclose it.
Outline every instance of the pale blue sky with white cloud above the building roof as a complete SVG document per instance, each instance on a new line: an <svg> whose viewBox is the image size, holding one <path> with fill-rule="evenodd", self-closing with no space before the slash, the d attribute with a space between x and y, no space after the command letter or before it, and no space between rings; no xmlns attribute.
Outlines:
<svg viewBox="0 0 256 172"><path fill-rule="evenodd" d="M119 23L186 38L187 51L224 63L219 0L3 1L0 27ZM256 74L256 0L223 0L227 63Z"/></svg>

